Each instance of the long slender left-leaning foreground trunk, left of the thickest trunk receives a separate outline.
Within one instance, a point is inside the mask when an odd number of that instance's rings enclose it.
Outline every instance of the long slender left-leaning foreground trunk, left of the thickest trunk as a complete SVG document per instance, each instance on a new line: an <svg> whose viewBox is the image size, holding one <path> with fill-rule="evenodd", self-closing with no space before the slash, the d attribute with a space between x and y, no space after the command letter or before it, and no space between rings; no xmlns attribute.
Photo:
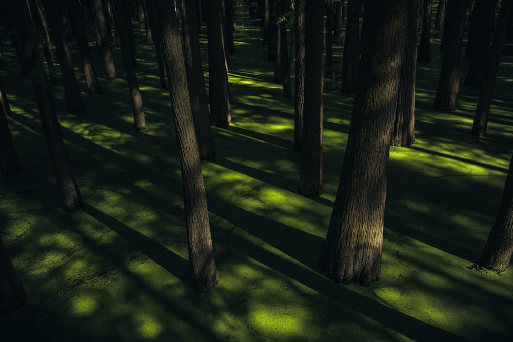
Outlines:
<svg viewBox="0 0 513 342"><path fill-rule="evenodd" d="M178 21L167 0L155 1L166 55L167 77L182 167L189 265L193 288L209 291L219 280L215 266L207 199L183 63Z"/></svg>

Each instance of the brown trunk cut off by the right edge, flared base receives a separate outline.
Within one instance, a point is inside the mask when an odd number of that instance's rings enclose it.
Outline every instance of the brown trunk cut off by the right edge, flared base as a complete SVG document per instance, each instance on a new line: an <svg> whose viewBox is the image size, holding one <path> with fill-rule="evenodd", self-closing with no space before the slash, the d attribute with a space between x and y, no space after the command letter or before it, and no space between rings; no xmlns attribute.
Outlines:
<svg viewBox="0 0 513 342"><path fill-rule="evenodd" d="M504 3L510 0L503 0ZM481 265L494 271L505 271L513 255L513 158L509 164L499 213L481 256Z"/></svg>

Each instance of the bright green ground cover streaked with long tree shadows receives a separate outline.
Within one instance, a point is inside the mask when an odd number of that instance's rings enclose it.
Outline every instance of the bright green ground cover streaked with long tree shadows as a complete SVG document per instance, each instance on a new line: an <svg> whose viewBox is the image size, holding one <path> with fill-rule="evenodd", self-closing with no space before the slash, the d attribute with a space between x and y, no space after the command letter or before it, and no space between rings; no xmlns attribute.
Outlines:
<svg viewBox="0 0 513 342"><path fill-rule="evenodd" d="M66 113L61 82L52 85L84 199L75 214L62 210L29 78L1 34L24 171L0 177L0 237L28 302L0 316L0 340L513 340L513 270L476 267L513 151L513 57L502 58L487 137L476 138L478 89L461 87L459 110L432 109L442 56L433 41L431 62L418 65L415 144L390 150L381 280L345 286L317 267L354 98L333 90L340 41L326 67L324 194L305 198L294 100L272 82L260 31L241 27L230 56L233 123L213 127L217 155L202 163L220 281L197 294L169 94L142 32L145 131L133 130L119 45L118 79L102 78L102 95L83 93L86 111ZM96 69L104 77L100 58Z"/></svg>

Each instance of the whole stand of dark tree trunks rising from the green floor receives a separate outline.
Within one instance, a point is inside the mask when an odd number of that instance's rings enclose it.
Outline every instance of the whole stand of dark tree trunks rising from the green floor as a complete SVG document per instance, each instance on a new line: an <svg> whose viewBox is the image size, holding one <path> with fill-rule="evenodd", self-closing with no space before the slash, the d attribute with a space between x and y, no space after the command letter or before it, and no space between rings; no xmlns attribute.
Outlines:
<svg viewBox="0 0 513 342"><path fill-rule="evenodd" d="M472 129L472 134L477 136L486 132L501 46L504 36L511 31L511 2L500 2L497 21L495 1L440 0L437 6L433 32L437 37L443 32L441 46L445 53L434 106L439 110L458 107L463 30L470 12L467 52L473 64L467 80L482 89ZM363 0L348 0L347 8L345 3L260 0L252 2L251 8L261 19L264 42L269 46L268 58L275 62L274 79L283 82L285 97L291 96L291 57L287 52L284 23L289 22L294 33L294 149L301 152L298 188L305 196L318 196L323 191L323 65L331 63L332 35L340 35L342 22L346 22L340 90L356 95L320 266L329 278L339 283L367 286L379 280L381 272L389 148L408 146L415 141L415 69L417 61L429 61L432 0L365 0L365 7ZM473 11L469 11L471 4ZM146 30L147 43L155 45L161 87L169 88L182 168L192 286L199 292L209 291L218 282L218 271L200 160L215 156L211 125L231 122L227 72L229 55L234 53L234 1L0 0L0 13L22 73L30 74L50 160L67 212L80 210L82 199L49 85L56 81L49 41L54 42L57 51L67 110L76 112L84 110L85 105L67 41L77 41L87 92L101 94L87 27L91 24L91 31L94 29L107 80L117 77L109 42L119 39L134 128L144 130L146 121L135 73L137 46L132 27L133 14L137 14L137 24ZM198 38L198 28L204 23L208 32L208 96ZM46 70L51 71L49 75ZM481 81L471 81L474 78ZM21 163L9 133L6 117L10 109L1 80L0 92L0 171L7 176L20 172ZM512 170L513 162L500 213L481 261L483 266L499 271L507 268L513 252ZM17 299L4 301L2 296ZM0 304L0 313L12 311L24 303L24 298L23 287L0 244L0 299L3 299L0 303L16 303Z"/></svg>

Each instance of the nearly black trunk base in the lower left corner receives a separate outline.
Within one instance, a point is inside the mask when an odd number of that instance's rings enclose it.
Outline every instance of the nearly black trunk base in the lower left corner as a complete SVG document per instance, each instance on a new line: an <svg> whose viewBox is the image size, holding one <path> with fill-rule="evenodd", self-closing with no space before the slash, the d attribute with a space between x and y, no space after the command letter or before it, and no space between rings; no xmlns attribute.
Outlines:
<svg viewBox="0 0 513 342"><path fill-rule="evenodd" d="M0 315L11 313L27 303L27 293L0 238Z"/></svg>

